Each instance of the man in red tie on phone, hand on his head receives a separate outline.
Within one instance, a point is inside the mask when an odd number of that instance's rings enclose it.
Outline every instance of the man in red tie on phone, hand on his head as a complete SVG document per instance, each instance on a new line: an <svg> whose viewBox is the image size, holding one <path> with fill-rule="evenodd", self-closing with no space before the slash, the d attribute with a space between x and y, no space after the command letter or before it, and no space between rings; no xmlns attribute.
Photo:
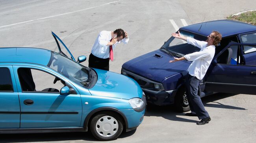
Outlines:
<svg viewBox="0 0 256 143"><path fill-rule="evenodd" d="M89 56L89 67L109 71L109 60L113 61L113 49L117 43L128 43L128 33L122 29L101 31Z"/></svg>

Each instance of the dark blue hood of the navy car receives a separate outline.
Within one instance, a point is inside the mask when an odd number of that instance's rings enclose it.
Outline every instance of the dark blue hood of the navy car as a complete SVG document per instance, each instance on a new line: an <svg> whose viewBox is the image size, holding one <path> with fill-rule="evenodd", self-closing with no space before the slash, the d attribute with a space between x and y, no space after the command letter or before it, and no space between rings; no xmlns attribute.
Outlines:
<svg viewBox="0 0 256 143"><path fill-rule="evenodd" d="M174 60L173 56L156 50L124 63L122 68L147 79L161 82L169 76L186 71L190 65L187 61L169 63L170 60Z"/></svg>

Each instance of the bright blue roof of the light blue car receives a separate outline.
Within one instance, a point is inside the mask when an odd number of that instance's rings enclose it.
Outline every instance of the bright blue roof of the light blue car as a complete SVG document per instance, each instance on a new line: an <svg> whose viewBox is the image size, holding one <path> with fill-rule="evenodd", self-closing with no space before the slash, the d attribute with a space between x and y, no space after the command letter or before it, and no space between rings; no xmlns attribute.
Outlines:
<svg viewBox="0 0 256 143"><path fill-rule="evenodd" d="M22 62L47 65L50 57L50 50L28 47L0 48L0 62Z"/></svg>

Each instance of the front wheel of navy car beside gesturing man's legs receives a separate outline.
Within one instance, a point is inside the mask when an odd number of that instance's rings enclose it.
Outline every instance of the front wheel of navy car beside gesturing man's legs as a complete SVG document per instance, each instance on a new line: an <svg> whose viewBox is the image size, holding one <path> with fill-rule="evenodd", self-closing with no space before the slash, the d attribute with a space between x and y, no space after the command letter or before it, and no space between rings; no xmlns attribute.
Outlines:
<svg viewBox="0 0 256 143"><path fill-rule="evenodd" d="M186 91L180 90L177 92L174 98L175 110L178 112L187 112L190 110L189 104L187 101Z"/></svg>

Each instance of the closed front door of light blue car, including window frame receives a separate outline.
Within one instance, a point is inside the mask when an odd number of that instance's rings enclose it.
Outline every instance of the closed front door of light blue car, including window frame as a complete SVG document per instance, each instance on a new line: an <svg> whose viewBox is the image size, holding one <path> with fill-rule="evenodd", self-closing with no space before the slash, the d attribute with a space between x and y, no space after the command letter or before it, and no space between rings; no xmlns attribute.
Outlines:
<svg viewBox="0 0 256 143"><path fill-rule="evenodd" d="M20 97L20 128L80 127L81 97L58 74L40 67L13 66ZM55 84L54 79L59 78ZM72 93L60 95L68 86Z"/></svg>

